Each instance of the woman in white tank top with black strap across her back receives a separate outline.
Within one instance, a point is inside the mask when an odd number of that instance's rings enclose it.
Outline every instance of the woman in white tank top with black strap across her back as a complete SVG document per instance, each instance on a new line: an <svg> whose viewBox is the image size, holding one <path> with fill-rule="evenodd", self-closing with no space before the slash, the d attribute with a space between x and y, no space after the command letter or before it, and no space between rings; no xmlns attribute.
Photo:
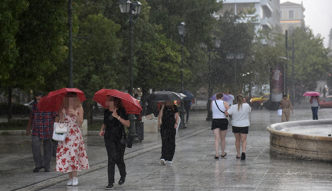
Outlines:
<svg viewBox="0 0 332 191"><path fill-rule="evenodd" d="M226 118L225 111L229 109L229 105L226 101L223 101L223 94L219 92L216 95L217 99L211 102L212 110L212 125L211 130L214 134L214 159L219 159L219 140L221 146L221 157L225 157L225 136L228 129L228 119Z"/></svg>

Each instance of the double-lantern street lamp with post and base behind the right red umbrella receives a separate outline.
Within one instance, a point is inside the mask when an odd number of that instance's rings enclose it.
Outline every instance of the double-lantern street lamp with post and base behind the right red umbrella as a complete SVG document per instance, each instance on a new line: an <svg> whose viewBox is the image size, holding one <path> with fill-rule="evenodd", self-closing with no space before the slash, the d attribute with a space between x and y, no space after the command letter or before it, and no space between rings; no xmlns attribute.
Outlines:
<svg viewBox="0 0 332 191"><path fill-rule="evenodd" d="M135 21L133 19L133 15L136 16L136 19L138 18L138 15L141 12L142 4L138 1L131 2L130 0L120 0L117 4L119 4L121 13L129 13L130 87L129 87L128 93L131 96L133 96L133 63L132 63L133 29L132 29L132 24L135 23ZM137 134L136 134L136 125L135 125L136 117L134 114L131 114L131 113L128 114L128 117L129 117L129 121L130 121L129 132L134 136L133 142L140 143L141 140L138 139Z"/></svg>

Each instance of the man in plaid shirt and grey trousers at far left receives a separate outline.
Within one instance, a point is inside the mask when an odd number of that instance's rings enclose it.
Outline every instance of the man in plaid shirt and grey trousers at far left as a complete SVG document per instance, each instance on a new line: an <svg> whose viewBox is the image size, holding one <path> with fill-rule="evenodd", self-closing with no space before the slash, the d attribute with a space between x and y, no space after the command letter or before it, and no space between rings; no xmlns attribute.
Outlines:
<svg viewBox="0 0 332 191"><path fill-rule="evenodd" d="M26 135L31 134L30 127L32 126L32 153L34 155L34 162L36 168L34 172L38 172L44 168L45 172L50 171L50 161L52 158L52 136L53 123L58 122L57 112L39 111L37 104L41 100L44 93L37 92L36 100L32 105L30 118L28 122ZM44 156L41 156L41 140L43 140Z"/></svg>

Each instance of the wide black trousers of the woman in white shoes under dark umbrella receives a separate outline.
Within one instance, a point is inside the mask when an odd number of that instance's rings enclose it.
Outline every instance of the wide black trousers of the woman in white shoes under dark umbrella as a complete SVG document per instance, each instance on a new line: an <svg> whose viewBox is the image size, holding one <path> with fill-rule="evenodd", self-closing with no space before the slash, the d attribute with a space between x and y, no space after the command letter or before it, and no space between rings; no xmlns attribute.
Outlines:
<svg viewBox="0 0 332 191"><path fill-rule="evenodd" d="M162 124L160 127L161 135L161 157L160 159L165 159L172 161L175 152L175 134L176 129L174 125Z"/></svg>

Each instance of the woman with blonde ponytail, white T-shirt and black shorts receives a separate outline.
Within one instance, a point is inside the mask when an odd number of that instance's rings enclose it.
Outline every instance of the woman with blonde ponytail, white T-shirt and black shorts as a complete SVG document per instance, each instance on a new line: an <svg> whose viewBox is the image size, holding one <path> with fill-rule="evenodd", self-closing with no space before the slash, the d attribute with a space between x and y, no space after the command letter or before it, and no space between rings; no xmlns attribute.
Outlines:
<svg viewBox="0 0 332 191"><path fill-rule="evenodd" d="M237 104L232 105L225 112L226 115L232 115L232 132L235 136L235 148L237 152L236 159L246 159L246 147L247 147L247 134L249 132L249 113L252 108L246 102L243 95L236 96ZM240 146L242 145L242 153L240 156Z"/></svg>

